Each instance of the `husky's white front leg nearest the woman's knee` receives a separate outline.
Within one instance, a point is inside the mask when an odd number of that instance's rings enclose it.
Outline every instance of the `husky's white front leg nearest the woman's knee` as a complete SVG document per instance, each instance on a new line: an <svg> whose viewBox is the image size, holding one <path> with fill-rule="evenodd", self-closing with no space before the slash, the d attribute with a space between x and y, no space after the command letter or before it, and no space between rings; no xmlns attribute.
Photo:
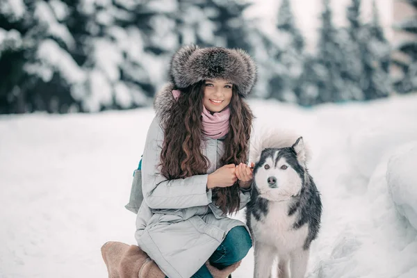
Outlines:
<svg viewBox="0 0 417 278"><path fill-rule="evenodd" d="M275 259L275 249L259 242L254 244L254 249L254 278L270 277L272 263Z"/></svg>

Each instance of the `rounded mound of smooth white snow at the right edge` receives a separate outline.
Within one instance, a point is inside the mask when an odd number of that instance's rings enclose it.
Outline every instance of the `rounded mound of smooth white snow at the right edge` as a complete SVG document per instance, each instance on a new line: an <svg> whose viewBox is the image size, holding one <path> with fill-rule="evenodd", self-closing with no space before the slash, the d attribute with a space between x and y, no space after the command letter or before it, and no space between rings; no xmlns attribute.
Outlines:
<svg viewBox="0 0 417 278"><path fill-rule="evenodd" d="M402 146L391 156L386 172L389 193L398 212L417 229L417 141Z"/></svg>

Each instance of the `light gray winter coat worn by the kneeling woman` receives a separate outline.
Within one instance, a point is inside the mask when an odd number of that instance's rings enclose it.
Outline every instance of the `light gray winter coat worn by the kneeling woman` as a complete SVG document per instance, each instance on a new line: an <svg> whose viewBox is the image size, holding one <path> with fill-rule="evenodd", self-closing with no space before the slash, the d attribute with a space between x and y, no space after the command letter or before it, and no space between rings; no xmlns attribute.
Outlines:
<svg viewBox="0 0 417 278"><path fill-rule="evenodd" d="M202 153L211 165L207 174L167 180L160 173L161 119L166 118L173 101L172 84L168 84L156 97L156 117L149 127L142 157L142 188L132 188L131 202L126 208L136 211L140 204L135 234L140 248L167 277L189 278L208 260L231 228L245 224L222 215L213 204L211 190L206 190L208 174L222 166L222 139L206 138L203 144ZM241 190L240 208L249 199L250 190Z"/></svg>

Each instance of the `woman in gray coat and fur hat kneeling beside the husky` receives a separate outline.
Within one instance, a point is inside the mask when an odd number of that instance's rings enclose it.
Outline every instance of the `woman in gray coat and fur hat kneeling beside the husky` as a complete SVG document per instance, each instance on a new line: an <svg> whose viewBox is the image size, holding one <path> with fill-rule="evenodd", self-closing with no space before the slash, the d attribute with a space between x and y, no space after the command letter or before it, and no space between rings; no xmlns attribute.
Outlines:
<svg viewBox="0 0 417 278"><path fill-rule="evenodd" d="M256 66L240 49L188 46L170 75L142 157L136 240L167 277L226 277L252 246L245 224L227 214L250 199L253 116L244 98Z"/></svg>

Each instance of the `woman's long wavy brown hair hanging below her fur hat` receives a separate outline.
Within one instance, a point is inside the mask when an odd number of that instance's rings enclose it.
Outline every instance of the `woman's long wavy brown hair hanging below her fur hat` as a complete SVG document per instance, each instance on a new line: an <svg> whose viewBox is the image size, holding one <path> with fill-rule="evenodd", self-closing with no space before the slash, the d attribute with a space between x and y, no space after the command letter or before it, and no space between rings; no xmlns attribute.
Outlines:
<svg viewBox="0 0 417 278"><path fill-rule="evenodd" d="M164 141L161 152L161 174L167 179L183 179L195 174L206 174L209 161L202 154L204 135L202 111L205 81L181 89L181 95L170 108L164 121ZM232 86L230 129L224 139L221 164L247 163L252 111ZM227 188L214 188L213 199L224 213L238 211L240 204L238 181Z"/></svg>

